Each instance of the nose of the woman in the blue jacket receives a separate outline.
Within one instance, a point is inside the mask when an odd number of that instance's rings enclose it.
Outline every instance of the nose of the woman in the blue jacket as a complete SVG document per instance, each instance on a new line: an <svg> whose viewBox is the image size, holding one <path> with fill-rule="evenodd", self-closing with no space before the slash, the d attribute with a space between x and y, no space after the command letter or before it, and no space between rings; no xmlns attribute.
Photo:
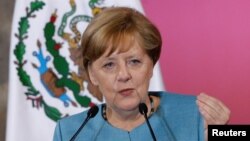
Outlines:
<svg viewBox="0 0 250 141"><path fill-rule="evenodd" d="M117 79L120 82L127 82L131 79L129 68L126 65L119 66Z"/></svg>

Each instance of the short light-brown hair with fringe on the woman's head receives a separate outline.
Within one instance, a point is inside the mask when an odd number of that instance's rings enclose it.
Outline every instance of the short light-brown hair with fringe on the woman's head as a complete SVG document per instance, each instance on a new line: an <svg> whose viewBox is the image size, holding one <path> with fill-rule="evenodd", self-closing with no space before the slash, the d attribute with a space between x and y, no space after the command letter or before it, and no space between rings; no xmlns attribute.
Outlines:
<svg viewBox="0 0 250 141"><path fill-rule="evenodd" d="M125 51L136 41L155 64L161 52L162 39L159 30L142 13L127 7L105 8L92 19L82 36L81 53L83 67L117 49ZM129 43L130 42L130 43ZM126 47L119 48L119 45Z"/></svg>

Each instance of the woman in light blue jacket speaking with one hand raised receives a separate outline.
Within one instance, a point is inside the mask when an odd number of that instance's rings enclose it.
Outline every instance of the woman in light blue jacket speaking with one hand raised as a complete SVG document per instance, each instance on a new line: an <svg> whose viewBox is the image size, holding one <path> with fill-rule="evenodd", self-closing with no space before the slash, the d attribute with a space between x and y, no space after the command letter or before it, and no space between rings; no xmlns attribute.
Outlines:
<svg viewBox="0 0 250 141"><path fill-rule="evenodd" d="M76 139L197 141L205 139L208 123L227 122L227 107L205 94L148 92L161 46L158 29L134 9L107 8L91 21L82 37L83 67L106 104L98 106ZM139 112L140 103L149 109L145 116L153 132ZM54 141L70 140L86 116L83 112L60 120Z"/></svg>

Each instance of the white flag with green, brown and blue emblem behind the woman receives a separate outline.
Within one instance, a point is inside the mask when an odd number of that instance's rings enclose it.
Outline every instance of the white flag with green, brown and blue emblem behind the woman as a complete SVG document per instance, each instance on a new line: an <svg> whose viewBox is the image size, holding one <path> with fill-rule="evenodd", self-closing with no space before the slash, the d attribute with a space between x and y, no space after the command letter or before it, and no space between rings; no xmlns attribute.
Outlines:
<svg viewBox="0 0 250 141"><path fill-rule="evenodd" d="M11 32L6 141L49 141L56 121L103 102L75 57L89 21L109 6L143 12L139 0L20 0ZM164 90L156 64L150 90Z"/></svg>

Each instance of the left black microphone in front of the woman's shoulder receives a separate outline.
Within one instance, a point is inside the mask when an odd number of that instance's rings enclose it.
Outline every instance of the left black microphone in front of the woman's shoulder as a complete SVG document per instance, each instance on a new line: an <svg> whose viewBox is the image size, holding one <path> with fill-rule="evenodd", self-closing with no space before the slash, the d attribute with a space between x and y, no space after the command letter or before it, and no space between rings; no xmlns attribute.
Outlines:
<svg viewBox="0 0 250 141"><path fill-rule="evenodd" d="M76 136L80 133L80 131L86 125L86 123L89 121L89 119L95 117L96 114L98 113L98 111L99 111L99 108L97 106L93 106L89 109L89 111L87 113L87 117L85 118L84 122L81 124L79 129L76 131L76 133L71 137L70 141L75 140Z"/></svg>

